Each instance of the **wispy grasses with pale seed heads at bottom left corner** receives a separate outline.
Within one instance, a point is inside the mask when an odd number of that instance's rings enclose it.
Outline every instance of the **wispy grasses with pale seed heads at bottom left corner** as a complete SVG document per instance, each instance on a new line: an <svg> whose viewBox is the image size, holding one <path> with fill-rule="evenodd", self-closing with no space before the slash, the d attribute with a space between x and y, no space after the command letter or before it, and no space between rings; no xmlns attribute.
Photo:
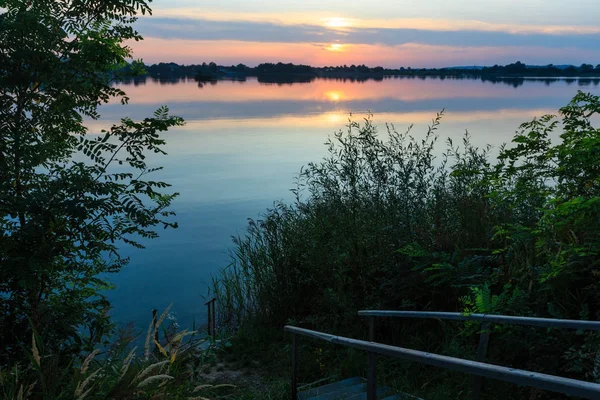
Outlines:
<svg viewBox="0 0 600 400"><path fill-rule="evenodd" d="M206 384L198 378L213 345L195 332L164 327L167 313L168 309L155 327L150 325L142 354L132 347L135 337L126 330L110 347L77 357L67 366L47 353L34 334L30 360L0 371L2 399L200 399L222 394L231 385ZM159 332L164 332L160 342L151 340Z"/></svg>

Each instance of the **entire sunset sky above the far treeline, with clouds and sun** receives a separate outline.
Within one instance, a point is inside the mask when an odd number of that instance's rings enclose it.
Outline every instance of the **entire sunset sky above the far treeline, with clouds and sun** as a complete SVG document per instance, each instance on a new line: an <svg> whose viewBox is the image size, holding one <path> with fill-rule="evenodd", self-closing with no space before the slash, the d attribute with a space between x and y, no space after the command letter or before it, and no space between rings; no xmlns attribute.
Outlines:
<svg viewBox="0 0 600 400"><path fill-rule="evenodd" d="M398 68L600 63L598 0L155 0L133 44L174 61Z"/></svg>

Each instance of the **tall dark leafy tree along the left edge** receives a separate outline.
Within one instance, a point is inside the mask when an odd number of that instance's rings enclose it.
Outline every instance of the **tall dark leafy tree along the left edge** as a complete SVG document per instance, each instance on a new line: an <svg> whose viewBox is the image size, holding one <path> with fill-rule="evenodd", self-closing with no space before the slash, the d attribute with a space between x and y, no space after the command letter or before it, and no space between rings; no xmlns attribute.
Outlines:
<svg viewBox="0 0 600 400"><path fill-rule="evenodd" d="M18 359L32 330L68 354L108 332L100 273L119 271L124 243L175 227L163 182L145 153L183 121L166 107L89 135L131 58L131 24L145 0L8 0L0 14L0 366ZM86 332L82 334L80 332ZM29 346L25 345L27 348Z"/></svg>

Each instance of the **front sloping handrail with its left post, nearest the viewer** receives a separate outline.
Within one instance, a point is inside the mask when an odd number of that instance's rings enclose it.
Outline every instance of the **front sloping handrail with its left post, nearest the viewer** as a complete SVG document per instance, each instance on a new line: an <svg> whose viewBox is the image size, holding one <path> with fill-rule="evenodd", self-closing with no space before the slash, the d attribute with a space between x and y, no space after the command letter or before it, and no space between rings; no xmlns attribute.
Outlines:
<svg viewBox="0 0 600 400"><path fill-rule="evenodd" d="M330 343L339 344L369 353L376 353L385 356L400 358L403 360L414 361L426 365L451 369L472 375L478 375L486 378L498 379L506 382L536 387L539 389L550 390L564 393L568 396L578 396L587 399L600 398L600 384L580 381L570 378L562 378L554 375L541 374L537 372L524 371L515 368L507 368L498 365L486 364L478 361L463 360L460 358L442 356L439 354L427 353L418 350L405 349L402 347L389 346L380 343L366 342L335 336L328 333L312 331L309 329L298 328L294 326L285 326L284 330L293 334L293 359L295 364L296 353L296 335L308 336L313 339L324 340ZM294 366L295 367L295 366ZM295 380L295 373L292 375ZM292 382L292 387L294 387ZM292 398L295 400L297 394L292 389Z"/></svg>

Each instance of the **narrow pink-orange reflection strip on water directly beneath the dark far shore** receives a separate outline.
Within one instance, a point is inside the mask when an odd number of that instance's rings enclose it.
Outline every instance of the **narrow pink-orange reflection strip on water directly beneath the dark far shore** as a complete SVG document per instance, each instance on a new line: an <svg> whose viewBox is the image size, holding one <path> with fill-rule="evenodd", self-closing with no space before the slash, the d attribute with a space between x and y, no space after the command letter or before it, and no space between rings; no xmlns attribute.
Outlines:
<svg viewBox="0 0 600 400"><path fill-rule="evenodd" d="M174 102L205 104L207 102L243 103L271 100L287 102L334 100L328 93L343 93L343 100L346 102L364 100L369 102L388 100L413 102L445 99L448 105L455 99L542 98L561 94L564 97L565 88L575 82L576 80L558 80L552 84L546 84L545 80L527 79L523 83L523 87L527 90L515 91L509 85L494 85L492 82L480 80L390 79L381 82L368 80L357 83L318 79L312 83L296 83L282 88L251 78L243 83L214 81L213 84L202 89L198 89L193 80L169 83L147 80L143 85L125 86L125 88L131 98L130 103L134 105L172 104ZM335 99L335 101L339 100ZM473 104L476 103L473 102Z"/></svg>

